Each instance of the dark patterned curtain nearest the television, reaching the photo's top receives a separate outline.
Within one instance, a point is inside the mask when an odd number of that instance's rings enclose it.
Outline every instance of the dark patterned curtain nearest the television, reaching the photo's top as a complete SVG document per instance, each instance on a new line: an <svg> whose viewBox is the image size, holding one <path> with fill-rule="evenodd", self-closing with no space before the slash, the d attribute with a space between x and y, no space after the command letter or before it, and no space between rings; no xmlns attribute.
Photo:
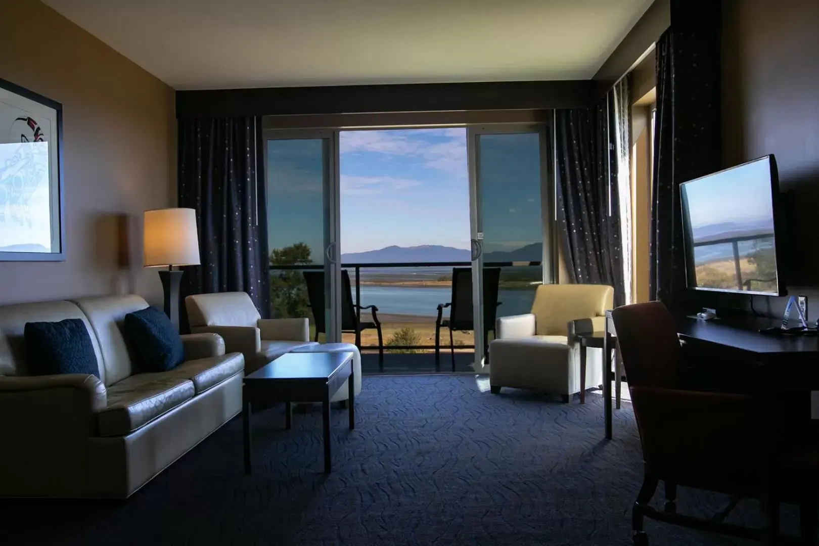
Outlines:
<svg viewBox="0 0 819 546"><path fill-rule="evenodd" d="M657 42L649 295L683 303L686 264L680 184L721 168L720 2L672 2Z"/></svg>

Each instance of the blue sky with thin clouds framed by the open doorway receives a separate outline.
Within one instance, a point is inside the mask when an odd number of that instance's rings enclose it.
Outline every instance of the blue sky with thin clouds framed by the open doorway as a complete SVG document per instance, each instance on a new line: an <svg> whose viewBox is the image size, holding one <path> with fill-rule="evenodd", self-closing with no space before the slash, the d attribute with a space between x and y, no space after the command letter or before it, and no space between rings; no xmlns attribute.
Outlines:
<svg viewBox="0 0 819 546"><path fill-rule="evenodd" d="M342 252L469 248L466 129L344 131Z"/></svg>

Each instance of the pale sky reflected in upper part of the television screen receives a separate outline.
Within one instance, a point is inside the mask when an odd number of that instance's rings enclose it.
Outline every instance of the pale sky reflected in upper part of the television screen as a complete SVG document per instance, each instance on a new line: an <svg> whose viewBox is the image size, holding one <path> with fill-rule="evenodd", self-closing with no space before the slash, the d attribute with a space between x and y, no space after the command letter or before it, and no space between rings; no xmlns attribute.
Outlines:
<svg viewBox="0 0 819 546"><path fill-rule="evenodd" d="M710 223L771 219L771 165L755 161L716 177L686 183L692 228Z"/></svg>

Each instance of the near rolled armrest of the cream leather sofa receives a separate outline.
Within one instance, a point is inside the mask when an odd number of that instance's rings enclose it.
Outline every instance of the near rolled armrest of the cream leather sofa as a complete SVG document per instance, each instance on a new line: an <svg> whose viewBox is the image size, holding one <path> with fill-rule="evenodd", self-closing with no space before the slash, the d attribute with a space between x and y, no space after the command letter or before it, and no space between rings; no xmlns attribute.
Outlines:
<svg viewBox="0 0 819 546"><path fill-rule="evenodd" d="M0 415L9 418L0 435L93 435L107 403L105 385L90 374L2 376Z"/></svg>

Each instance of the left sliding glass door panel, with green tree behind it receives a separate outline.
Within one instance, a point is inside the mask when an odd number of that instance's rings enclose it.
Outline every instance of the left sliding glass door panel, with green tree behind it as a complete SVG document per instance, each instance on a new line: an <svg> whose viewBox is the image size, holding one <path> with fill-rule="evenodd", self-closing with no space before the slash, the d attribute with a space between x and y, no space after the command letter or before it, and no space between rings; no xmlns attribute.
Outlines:
<svg viewBox="0 0 819 546"><path fill-rule="evenodd" d="M338 132L266 131L271 316L341 341Z"/></svg>

